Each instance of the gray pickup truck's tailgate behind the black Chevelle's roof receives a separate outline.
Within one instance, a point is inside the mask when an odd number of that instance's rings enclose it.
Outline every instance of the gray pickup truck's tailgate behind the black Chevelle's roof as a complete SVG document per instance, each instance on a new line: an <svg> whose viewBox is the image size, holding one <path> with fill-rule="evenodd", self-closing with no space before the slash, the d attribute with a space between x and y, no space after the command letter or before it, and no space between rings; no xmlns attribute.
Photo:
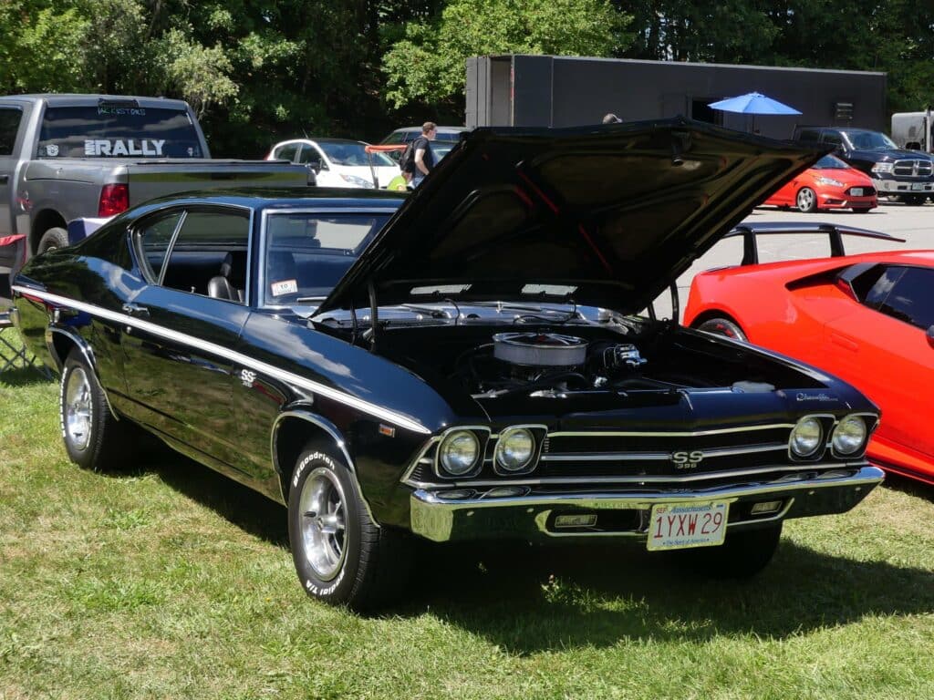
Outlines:
<svg viewBox="0 0 934 700"><path fill-rule="evenodd" d="M197 189L305 187L309 177L304 165L276 161L135 161L126 171L131 206Z"/></svg>

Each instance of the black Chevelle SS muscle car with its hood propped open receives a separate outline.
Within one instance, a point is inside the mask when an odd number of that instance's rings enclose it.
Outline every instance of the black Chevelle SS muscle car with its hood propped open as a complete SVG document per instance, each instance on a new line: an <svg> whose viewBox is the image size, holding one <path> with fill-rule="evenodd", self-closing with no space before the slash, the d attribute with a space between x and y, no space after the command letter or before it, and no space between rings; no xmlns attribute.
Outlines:
<svg viewBox="0 0 934 700"><path fill-rule="evenodd" d="M882 481L878 410L636 313L819 156L680 119L476 130L407 199L138 206L33 259L16 321L75 462L132 462L142 427L287 504L318 598L398 595L413 536L630 539L747 576L785 520Z"/></svg>

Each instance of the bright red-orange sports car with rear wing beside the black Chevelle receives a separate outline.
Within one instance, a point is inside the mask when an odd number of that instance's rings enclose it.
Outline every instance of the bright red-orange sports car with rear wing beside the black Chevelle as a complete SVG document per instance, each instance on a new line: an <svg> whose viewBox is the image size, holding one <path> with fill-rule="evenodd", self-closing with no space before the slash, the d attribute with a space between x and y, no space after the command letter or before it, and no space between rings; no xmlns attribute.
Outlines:
<svg viewBox="0 0 934 700"><path fill-rule="evenodd" d="M734 230L745 239L743 264L694 277L685 325L797 357L856 385L882 409L870 459L934 484L934 250L844 256L841 233L893 237L804 229ZM817 231L831 236L830 258L757 264L757 234Z"/></svg>

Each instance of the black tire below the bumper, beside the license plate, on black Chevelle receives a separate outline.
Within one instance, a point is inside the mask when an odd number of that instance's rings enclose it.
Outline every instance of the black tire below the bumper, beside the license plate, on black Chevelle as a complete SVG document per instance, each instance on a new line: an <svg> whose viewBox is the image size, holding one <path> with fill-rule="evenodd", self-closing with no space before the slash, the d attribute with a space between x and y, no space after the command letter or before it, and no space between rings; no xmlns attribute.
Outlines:
<svg viewBox="0 0 934 700"><path fill-rule="evenodd" d="M727 532L719 547L679 552L687 567L712 579L749 579L769 566L782 538L782 524Z"/></svg>

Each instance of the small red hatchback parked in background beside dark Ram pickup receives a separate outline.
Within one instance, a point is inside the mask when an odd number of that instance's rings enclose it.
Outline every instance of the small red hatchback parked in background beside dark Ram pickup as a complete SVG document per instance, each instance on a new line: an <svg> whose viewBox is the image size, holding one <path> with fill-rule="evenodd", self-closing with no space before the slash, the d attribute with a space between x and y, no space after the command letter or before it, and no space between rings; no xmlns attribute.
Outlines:
<svg viewBox="0 0 934 700"><path fill-rule="evenodd" d="M869 175L836 156L827 155L791 178L763 204L797 206L808 213L818 209L868 212L879 205L879 200Z"/></svg>

